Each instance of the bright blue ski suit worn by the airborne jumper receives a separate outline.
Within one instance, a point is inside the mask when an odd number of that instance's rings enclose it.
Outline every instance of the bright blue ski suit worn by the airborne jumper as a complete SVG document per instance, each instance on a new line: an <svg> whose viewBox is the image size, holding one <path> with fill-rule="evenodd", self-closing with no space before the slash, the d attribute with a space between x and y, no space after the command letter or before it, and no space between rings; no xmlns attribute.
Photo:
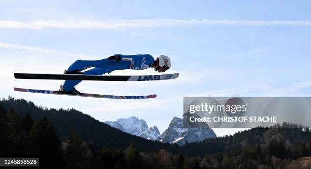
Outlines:
<svg viewBox="0 0 311 169"><path fill-rule="evenodd" d="M122 55L115 54L114 56L120 57L120 61L102 59L97 61L81 61L77 60L69 66L68 71L79 70L82 71L87 68L94 67L90 70L84 71L85 74L102 75L114 70L134 69L143 70L152 67L154 62L150 54L136 54L136 55ZM64 90L66 92L74 89L76 85L82 80L66 80L64 82Z"/></svg>

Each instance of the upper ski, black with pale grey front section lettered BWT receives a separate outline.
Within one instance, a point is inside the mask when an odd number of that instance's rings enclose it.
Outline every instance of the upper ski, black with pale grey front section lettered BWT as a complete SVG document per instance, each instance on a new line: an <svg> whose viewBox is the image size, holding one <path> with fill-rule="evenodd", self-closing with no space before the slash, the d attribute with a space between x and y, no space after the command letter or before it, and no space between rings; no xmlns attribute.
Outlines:
<svg viewBox="0 0 311 169"><path fill-rule="evenodd" d="M142 76L109 76L109 75L87 75L87 74L35 74L14 73L18 79L49 79L49 80L99 80L99 81L152 81L175 79L179 73Z"/></svg>

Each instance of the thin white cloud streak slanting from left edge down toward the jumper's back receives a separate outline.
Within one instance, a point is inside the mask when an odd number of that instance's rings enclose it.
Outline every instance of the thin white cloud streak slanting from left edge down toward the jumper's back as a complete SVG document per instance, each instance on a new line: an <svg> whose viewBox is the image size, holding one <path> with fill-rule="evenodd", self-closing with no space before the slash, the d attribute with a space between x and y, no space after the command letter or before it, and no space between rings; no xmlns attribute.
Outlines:
<svg viewBox="0 0 311 169"><path fill-rule="evenodd" d="M71 58L79 58L79 59L99 59L100 58L95 55L87 55L87 54L82 54L82 53L70 53L70 52L58 51L54 49L45 49L41 47L25 46L25 45L20 45L20 44L11 44L11 43L3 43L3 42L0 42L0 48L40 52L40 53L45 53L45 54L54 54L54 55L71 57Z"/></svg>

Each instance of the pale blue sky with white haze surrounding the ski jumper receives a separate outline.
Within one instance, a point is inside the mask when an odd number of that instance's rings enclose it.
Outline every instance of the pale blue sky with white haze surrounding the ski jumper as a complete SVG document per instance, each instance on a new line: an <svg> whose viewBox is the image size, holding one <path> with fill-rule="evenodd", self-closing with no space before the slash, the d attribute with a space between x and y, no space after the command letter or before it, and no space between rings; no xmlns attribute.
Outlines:
<svg viewBox="0 0 311 169"><path fill-rule="evenodd" d="M0 96L73 107L100 121L135 116L158 126L160 132L174 116L182 115L183 97L309 97L310 5L309 1L1 1L0 76L5 82ZM76 59L115 53L149 53L154 58L166 54L172 60L167 72L179 72L180 77L142 83L83 81L77 86L84 93L158 95L148 100L13 91L13 87L57 90L63 83L14 79L13 72L62 73ZM112 75L154 73L122 70ZM217 135L236 131L214 130Z"/></svg>

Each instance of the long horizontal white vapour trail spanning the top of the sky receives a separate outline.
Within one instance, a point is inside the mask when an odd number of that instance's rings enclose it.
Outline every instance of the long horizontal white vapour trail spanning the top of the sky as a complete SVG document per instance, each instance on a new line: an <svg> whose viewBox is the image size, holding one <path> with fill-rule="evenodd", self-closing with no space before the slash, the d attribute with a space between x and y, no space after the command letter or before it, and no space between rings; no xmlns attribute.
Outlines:
<svg viewBox="0 0 311 169"><path fill-rule="evenodd" d="M310 26L311 20L181 20L181 19L133 19L133 20L35 20L0 21L0 29L119 29L122 27L172 27L186 25L247 25L247 26Z"/></svg>

